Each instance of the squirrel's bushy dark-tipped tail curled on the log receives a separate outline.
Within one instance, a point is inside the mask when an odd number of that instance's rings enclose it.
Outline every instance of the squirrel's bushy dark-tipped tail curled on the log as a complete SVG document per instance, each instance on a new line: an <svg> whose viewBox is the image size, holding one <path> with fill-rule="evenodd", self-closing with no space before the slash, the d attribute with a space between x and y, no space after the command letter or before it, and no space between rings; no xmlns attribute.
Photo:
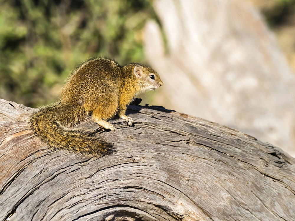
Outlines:
<svg viewBox="0 0 295 221"><path fill-rule="evenodd" d="M52 149L64 149L71 152L81 153L87 156L101 157L110 153L112 144L104 142L91 134L63 128L57 119L58 114L65 114L65 121L74 123L63 107L44 107L31 115L31 128L41 142L48 144ZM63 112L63 113L61 113ZM74 118L74 116L72 116ZM71 118L71 117L70 117ZM76 119L77 120L77 119Z"/></svg>

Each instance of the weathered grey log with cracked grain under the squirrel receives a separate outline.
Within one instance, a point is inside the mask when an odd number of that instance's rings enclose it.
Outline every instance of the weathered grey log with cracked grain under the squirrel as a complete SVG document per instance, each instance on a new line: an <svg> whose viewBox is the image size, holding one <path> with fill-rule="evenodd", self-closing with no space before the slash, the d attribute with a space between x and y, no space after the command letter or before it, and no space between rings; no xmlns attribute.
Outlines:
<svg viewBox="0 0 295 221"><path fill-rule="evenodd" d="M0 100L0 220L294 220L294 158L247 134L130 106L134 127L77 126L114 143L96 159L40 144L32 111Z"/></svg>

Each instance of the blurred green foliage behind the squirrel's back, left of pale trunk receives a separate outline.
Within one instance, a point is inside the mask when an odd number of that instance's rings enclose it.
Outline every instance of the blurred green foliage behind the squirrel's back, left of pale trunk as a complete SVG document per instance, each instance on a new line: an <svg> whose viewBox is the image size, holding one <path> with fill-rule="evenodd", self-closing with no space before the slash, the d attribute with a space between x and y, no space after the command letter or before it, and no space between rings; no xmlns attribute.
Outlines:
<svg viewBox="0 0 295 221"><path fill-rule="evenodd" d="M146 63L147 19L157 19L148 0L0 0L0 98L53 102L89 57Z"/></svg>

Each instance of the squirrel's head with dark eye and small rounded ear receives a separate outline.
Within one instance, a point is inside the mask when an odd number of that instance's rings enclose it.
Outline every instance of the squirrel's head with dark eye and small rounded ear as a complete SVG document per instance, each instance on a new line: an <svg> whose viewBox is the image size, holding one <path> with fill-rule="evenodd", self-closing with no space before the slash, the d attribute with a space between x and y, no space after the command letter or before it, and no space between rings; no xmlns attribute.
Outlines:
<svg viewBox="0 0 295 221"><path fill-rule="evenodd" d="M136 65L133 73L141 91L152 91L163 85L158 73L145 65Z"/></svg>

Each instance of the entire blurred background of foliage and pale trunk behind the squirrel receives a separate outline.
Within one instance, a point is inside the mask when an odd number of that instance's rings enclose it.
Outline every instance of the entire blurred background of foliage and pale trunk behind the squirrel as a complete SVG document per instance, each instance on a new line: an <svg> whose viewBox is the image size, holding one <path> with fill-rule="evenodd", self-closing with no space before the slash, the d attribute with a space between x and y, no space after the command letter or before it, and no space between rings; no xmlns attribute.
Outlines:
<svg viewBox="0 0 295 221"><path fill-rule="evenodd" d="M153 67L142 94L295 157L294 0L0 0L0 98L58 99L89 57Z"/></svg>

